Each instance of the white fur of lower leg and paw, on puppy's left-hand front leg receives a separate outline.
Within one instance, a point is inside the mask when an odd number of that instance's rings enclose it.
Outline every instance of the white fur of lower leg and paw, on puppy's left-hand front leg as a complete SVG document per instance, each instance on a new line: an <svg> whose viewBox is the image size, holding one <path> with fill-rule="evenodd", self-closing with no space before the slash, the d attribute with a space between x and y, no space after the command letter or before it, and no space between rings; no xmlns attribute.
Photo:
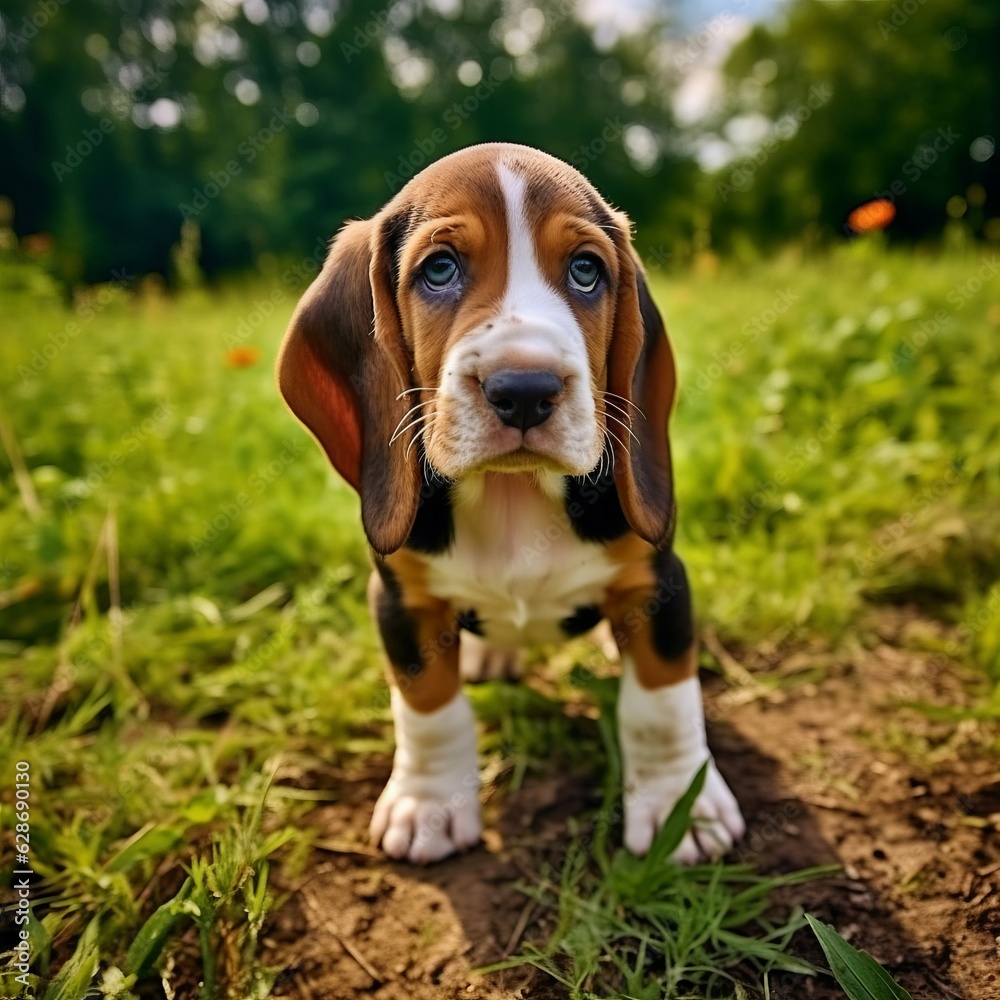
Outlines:
<svg viewBox="0 0 1000 1000"><path fill-rule="evenodd" d="M392 689L396 754L370 833L393 858L438 861L479 842L479 769L472 708L459 692L435 712Z"/></svg>

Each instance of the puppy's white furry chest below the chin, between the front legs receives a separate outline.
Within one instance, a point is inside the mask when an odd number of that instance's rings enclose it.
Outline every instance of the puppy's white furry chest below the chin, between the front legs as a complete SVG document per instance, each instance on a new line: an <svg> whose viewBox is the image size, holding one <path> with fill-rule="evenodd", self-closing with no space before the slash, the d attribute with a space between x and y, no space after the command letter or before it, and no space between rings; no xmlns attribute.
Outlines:
<svg viewBox="0 0 1000 1000"><path fill-rule="evenodd" d="M470 615L488 642L552 642L596 621L619 567L576 535L555 486L489 473L456 489L453 510L455 540L430 558L428 589Z"/></svg>

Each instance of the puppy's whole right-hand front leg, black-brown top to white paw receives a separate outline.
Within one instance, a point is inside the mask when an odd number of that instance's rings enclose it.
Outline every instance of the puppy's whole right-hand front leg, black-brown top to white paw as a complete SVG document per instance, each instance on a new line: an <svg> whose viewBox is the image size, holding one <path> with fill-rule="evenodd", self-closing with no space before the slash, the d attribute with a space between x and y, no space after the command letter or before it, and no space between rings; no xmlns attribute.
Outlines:
<svg viewBox="0 0 1000 1000"><path fill-rule="evenodd" d="M687 577L677 556L659 558L653 588L617 595L610 609L621 651L618 723L625 770L625 846L644 855L656 831L709 761L695 825L675 857L717 857L743 836L739 806L708 750Z"/></svg>

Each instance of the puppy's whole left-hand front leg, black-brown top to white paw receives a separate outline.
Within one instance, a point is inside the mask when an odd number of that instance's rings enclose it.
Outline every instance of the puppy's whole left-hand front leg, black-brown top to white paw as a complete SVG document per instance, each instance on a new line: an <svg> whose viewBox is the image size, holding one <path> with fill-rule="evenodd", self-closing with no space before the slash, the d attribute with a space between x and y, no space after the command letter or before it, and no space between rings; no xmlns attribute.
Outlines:
<svg viewBox="0 0 1000 1000"><path fill-rule="evenodd" d="M369 602L389 660L396 753L375 805L372 839L387 854L430 862L478 843L479 768L472 708L462 693L458 633L447 606L407 607L386 567Z"/></svg>

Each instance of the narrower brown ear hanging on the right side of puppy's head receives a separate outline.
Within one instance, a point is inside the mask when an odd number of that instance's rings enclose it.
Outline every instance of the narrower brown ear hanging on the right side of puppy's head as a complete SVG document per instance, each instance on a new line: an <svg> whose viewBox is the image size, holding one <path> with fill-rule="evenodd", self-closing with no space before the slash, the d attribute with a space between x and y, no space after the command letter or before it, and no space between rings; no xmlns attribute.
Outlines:
<svg viewBox="0 0 1000 1000"><path fill-rule="evenodd" d="M663 320L649 294L642 264L632 250L627 224L619 231L621 262L608 388L624 397L632 434L618 434L615 484L632 529L667 548L673 541L675 503L667 423L677 376ZM617 240L616 240L617 242ZM631 404L631 405L630 405ZM626 449L627 446L627 449Z"/></svg>

